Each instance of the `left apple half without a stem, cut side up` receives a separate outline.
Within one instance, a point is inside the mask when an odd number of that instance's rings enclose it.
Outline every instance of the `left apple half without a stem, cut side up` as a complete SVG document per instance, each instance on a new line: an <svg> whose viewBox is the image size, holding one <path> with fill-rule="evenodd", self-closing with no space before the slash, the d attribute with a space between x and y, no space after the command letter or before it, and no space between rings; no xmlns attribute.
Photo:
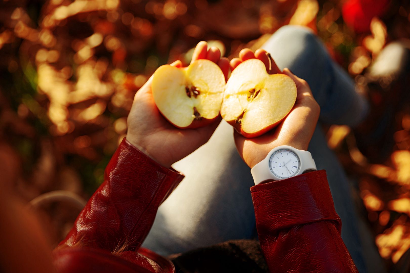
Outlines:
<svg viewBox="0 0 410 273"><path fill-rule="evenodd" d="M224 87L219 66L200 59L186 68L160 66L154 73L152 93L159 112L171 124L198 128L219 116Z"/></svg>

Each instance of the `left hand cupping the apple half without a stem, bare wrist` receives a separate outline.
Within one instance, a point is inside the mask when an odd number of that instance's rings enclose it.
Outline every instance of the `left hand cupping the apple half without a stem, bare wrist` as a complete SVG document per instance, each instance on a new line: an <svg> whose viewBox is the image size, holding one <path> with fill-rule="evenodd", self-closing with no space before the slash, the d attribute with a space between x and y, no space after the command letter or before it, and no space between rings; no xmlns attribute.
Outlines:
<svg viewBox="0 0 410 273"><path fill-rule="evenodd" d="M208 59L217 63L228 77L229 61L222 58L216 47L208 48L206 42L199 42L194 50L192 61ZM181 61L171 65L181 67ZM205 144L214 133L221 118L212 124L198 129L178 129L159 113L151 93L152 77L135 94L128 115L127 140L147 156L169 168L174 162L189 155Z"/></svg>

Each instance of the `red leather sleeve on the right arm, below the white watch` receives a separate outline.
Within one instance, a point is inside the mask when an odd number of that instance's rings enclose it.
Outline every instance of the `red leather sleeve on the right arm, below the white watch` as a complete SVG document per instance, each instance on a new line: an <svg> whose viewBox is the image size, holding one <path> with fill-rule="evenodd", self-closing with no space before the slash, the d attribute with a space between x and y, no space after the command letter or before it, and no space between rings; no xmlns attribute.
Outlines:
<svg viewBox="0 0 410 273"><path fill-rule="evenodd" d="M270 272L358 272L340 236L326 171L251 188Z"/></svg>

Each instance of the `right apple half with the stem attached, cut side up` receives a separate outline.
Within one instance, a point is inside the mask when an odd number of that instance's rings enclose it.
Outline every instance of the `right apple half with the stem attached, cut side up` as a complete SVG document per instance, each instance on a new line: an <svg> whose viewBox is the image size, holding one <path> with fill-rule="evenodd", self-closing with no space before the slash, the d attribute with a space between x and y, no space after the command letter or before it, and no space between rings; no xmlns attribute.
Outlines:
<svg viewBox="0 0 410 273"><path fill-rule="evenodd" d="M246 138L255 138L287 116L296 94L290 77L268 74L262 61L249 59L233 70L226 83L221 116Z"/></svg>

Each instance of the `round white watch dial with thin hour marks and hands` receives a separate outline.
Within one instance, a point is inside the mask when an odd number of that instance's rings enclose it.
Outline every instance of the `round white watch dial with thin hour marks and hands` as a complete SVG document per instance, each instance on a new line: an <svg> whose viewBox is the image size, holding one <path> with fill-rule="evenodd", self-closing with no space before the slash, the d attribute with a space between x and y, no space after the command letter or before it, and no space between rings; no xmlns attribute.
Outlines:
<svg viewBox="0 0 410 273"><path fill-rule="evenodd" d="M269 160L269 168L279 178L295 176L299 171L300 159L291 150L281 149L273 153Z"/></svg>

